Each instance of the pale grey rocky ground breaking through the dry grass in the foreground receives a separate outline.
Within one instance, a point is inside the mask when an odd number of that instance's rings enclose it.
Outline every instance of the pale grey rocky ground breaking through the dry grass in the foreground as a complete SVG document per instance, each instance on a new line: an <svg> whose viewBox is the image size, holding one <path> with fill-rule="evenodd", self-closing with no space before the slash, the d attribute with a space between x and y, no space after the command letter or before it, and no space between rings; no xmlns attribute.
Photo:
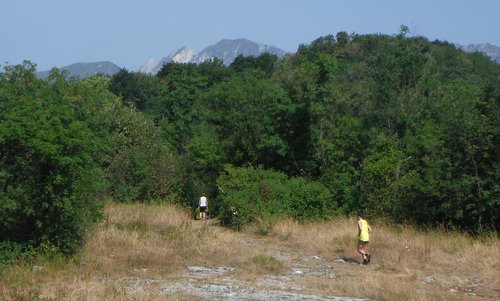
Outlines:
<svg viewBox="0 0 500 301"><path fill-rule="evenodd" d="M262 241L248 239L240 243L263 244ZM363 268L355 260L339 258L328 261L320 256L297 256L283 251L272 256L286 265L285 272L245 277L238 268L229 266L187 266L170 279L149 279L140 277L141 273L147 274L147 269L138 269L138 277L127 280L127 290L130 294L155 290L159 297L168 295L189 299L190 296L198 300L368 300L318 294L307 285L315 279L334 281L337 271L345 274L346 270Z"/></svg>

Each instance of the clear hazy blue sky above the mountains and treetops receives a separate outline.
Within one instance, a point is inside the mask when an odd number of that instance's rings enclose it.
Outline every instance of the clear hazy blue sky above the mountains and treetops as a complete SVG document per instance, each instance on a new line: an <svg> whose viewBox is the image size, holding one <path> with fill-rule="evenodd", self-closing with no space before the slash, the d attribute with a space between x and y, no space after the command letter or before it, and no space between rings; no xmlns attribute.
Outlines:
<svg viewBox="0 0 500 301"><path fill-rule="evenodd" d="M136 71L183 46L247 38L294 52L339 31L500 46L500 0L0 0L0 65L112 61Z"/></svg>

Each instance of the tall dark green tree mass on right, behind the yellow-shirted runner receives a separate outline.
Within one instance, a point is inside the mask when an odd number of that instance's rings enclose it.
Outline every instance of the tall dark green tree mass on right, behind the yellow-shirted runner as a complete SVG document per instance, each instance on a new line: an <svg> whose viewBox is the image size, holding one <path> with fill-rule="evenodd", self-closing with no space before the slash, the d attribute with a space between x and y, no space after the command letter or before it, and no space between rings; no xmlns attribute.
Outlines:
<svg viewBox="0 0 500 301"><path fill-rule="evenodd" d="M301 45L272 78L296 104L294 163L343 210L491 229L499 71L402 26L394 37L339 33Z"/></svg>

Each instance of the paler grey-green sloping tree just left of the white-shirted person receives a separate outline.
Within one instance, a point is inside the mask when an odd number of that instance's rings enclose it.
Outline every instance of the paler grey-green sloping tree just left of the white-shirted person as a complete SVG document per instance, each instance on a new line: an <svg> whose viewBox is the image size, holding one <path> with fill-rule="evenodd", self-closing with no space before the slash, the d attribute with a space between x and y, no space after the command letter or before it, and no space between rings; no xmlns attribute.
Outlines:
<svg viewBox="0 0 500 301"><path fill-rule="evenodd" d="M177 199L182 170L177 155L151 119L127 107L111 112L107 174L110 191L119 201Z"/></svg>

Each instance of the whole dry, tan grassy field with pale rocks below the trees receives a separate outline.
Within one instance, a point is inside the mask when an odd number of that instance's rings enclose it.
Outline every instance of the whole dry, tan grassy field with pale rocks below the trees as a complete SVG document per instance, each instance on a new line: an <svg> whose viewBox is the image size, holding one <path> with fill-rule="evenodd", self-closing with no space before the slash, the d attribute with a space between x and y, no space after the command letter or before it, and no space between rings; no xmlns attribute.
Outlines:
<svg viewBox="0 0 500 301"><path fill-rule="evenodd" d="M1 271L0 300L500 299L496 235L371 226L363 266L354 219L234 232L174 205L109 204L76 257Z"/></svg>

